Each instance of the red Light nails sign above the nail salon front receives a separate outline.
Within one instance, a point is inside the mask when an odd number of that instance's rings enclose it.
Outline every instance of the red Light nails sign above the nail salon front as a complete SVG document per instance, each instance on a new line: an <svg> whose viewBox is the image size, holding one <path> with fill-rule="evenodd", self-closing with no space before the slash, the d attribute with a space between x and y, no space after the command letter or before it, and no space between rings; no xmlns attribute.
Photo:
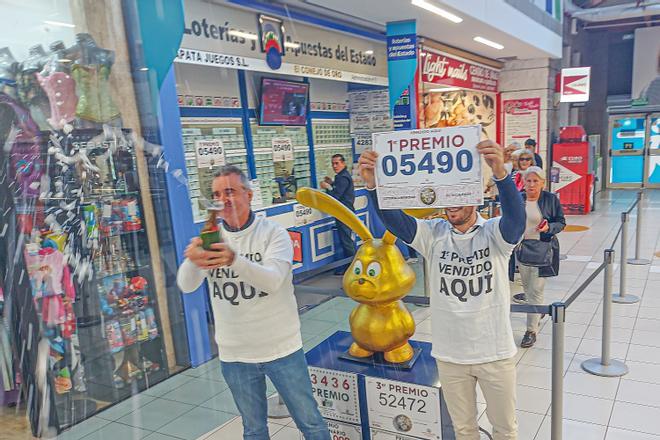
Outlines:
<svg viewBox="0 0 660 440"><path fill-rule="evenodd" d="M495 69L429 51L421 59L422 82L497 92L500 74Z"/></svg>

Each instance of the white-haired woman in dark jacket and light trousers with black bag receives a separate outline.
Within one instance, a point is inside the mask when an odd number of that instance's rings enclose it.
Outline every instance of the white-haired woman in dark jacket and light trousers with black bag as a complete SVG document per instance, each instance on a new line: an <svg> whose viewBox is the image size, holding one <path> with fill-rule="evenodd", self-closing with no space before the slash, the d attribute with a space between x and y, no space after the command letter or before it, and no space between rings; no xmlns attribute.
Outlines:
<svg viewBox="0 0 660 440"><path fill-rule="evenodd" d="M536 166L529 167L525 171L524 177L525 192L522 196L525 200L527 223L520 249L511 257L509 279L513 281L515 259L517 259L524 293L514 295L515 302L543 304L545 278L559 275L557 234L566 226L566 220L559 198L544 190L545 173L543 170ZM528 249L531 250L529 252L531 255L526 255ZM550 249L551 255L548 254L548 249ZM538 265L541 264L539 258L544 254L548 264L539 267ZM534 265L529 265L530 262ZM538 313L527 315L527 332L520 344L522 348L529 348L536 342L539 320Z"/></svg>

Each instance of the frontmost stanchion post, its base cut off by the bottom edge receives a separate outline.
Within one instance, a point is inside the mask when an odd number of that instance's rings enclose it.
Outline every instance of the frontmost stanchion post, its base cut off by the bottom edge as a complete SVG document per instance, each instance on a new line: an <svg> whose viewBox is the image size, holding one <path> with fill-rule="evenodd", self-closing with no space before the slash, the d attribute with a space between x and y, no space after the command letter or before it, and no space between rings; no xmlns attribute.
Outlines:
<svg viewBox="0 0 660 440"><path fill-rule="evenodd" d="M562 440L564 418L564 330L566 305L552 305L552 415L550 439Z"/></svg>

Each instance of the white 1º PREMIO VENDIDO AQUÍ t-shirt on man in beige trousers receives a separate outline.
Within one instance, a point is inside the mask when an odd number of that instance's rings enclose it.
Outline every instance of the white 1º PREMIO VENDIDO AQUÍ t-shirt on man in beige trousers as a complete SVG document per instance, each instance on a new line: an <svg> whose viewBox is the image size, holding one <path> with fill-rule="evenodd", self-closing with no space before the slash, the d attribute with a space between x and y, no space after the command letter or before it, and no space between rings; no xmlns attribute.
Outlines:
<svg viewBox="0 0 660 440"><path fill-rule="evenodd" d="M511 329L509 256L500 217L467 233L443 219L417 220L412 247L430 262L431 355L456 364L481 364L516 354Z"/></svg>

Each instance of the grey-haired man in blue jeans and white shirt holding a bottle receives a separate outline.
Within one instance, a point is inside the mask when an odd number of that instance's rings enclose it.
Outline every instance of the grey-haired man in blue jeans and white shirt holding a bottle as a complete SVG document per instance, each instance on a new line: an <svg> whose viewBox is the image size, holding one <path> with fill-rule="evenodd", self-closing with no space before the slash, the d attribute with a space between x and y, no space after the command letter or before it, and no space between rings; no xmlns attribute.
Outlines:
<svg viewBox="0 0 660 440"><path fill-rule="evenodd" d="M279 224L256 217L240 168L221 167L212 183L221 202L222 243L202 248L195 237L177 273L183 292L206 280L224 380L243 417L245 440L268 440L266 376L306 440L330 440L312 394L293 294L293 247Z"/></svg>

